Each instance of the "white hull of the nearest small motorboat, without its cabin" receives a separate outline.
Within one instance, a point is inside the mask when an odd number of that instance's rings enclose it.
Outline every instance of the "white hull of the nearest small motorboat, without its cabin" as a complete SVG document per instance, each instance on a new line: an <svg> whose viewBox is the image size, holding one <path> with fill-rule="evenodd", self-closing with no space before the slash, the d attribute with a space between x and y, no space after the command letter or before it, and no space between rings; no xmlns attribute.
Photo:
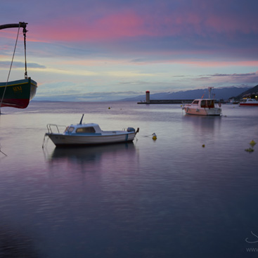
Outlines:
<svg viewBox="0 0 258 258"><path fill-rule="evenodd" d="M127 143L134 141L136 135L135 132L124 131L124 134L113 135L89 135L89 136L77 136L77 135L65 135L65 134L50 134L47 136L51 138L51 141L57 147L65 146L92 146L110 143Z"/></svg>

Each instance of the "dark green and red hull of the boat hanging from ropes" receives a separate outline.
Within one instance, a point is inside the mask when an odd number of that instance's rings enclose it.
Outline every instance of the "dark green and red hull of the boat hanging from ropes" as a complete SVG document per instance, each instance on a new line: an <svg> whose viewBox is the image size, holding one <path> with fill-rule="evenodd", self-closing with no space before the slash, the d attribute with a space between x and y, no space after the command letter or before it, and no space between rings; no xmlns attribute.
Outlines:
<svg viewBox="0 0 258 258"><path fill-rule="evenodd" d="M37 91L37 82L30 77L13 82L0 83L1 107L27 108ZM4 96L4 99L2 100ZM0 107L0 108L1 108Z"/></svg>

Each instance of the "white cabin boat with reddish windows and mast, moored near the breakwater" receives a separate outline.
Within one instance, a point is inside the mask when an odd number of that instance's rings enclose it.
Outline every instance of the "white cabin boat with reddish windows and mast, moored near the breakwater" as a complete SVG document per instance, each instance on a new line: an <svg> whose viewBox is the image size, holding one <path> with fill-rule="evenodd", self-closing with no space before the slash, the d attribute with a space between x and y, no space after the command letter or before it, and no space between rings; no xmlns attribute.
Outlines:
<svg viewBox="0 0 258 258"><path fill-rule="evenodd" d="M187 115L221 115L221 103L217 107L214 99L210 98L211 89L212 87L209 87L209 98L195 99L191 104L183 105L182 109L185 110Z"/></svg>

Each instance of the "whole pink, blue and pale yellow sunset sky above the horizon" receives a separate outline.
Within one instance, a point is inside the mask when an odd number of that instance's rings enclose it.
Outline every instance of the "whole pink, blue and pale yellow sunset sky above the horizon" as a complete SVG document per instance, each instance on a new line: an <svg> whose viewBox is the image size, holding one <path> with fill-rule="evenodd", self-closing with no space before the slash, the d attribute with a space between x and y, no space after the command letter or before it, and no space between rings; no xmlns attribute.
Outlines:
<svg viewBox="0 0 258 258"><path fill-rule="evenodd" d="M1 0L0 25L27 22L35 100L115 101L258 84L257 0ZM6 82L17 28L0 30ZM10 80L24 78L20 30Z"/></svg>

